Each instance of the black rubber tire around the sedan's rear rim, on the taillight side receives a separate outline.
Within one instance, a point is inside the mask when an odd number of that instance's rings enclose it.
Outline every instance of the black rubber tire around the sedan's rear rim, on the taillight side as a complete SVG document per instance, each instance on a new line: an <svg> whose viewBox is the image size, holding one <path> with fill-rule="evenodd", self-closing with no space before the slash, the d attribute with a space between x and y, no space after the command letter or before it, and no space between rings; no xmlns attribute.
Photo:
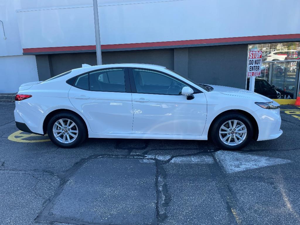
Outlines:
<svg viewBox="0 0 300 225"><path fill-rule="evenodd" d="M62 143L55 138L52 129L53 129L55 122L57 122L59 119L70 119L71 121L73 121L76 124L77 129L78 129L78 136L76 137L76 139L73 142ZM75 115L73 113L68 113L68 112L61 112L61 113L54 115L48 122L47 133L48 133L50 140L56 146L61 147L61 148L74 148L76 146L79 146L87 138L86 126L85 126L84 122L82 122L82 119L79 118L77 115Z"/></svg>

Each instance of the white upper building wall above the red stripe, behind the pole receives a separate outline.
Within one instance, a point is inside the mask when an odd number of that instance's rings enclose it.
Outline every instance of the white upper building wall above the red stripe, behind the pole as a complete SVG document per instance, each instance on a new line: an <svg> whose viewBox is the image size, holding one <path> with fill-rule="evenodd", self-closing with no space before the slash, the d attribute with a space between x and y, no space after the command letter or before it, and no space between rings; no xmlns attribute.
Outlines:
<svg viewBox="0 0 300 225"><path fill-rule="evenodd" d="M95 45L92 1L42 2L17 10L23 49ZM299 9L299 0L99 0L98 5L103 45L300 33L300 11L281 11Z"/></svg>

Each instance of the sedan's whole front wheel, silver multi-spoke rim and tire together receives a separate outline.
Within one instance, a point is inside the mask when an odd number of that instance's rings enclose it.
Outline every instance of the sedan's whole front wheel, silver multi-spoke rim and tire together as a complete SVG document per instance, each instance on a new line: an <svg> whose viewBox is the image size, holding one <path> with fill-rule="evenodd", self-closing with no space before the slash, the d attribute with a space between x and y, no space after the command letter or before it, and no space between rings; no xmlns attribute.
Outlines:
<svg viewBox="0 0 300 225"><path fill-rule="evenodd" d="M238 150L244 148L252 139L253 126L243 114L226 114L214 122L210 135L221 149Z"/></svg>

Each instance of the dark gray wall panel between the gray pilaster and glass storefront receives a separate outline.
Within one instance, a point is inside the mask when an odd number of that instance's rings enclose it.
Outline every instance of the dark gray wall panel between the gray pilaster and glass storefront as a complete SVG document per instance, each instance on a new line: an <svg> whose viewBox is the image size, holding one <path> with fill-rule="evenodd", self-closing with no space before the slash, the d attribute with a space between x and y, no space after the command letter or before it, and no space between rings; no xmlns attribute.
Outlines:
<svg viewBox="0 0 300 225"><path fill-rule="evenodd" d="M248 45L189 48L188 77L199 83L245 89Z"/></svg>

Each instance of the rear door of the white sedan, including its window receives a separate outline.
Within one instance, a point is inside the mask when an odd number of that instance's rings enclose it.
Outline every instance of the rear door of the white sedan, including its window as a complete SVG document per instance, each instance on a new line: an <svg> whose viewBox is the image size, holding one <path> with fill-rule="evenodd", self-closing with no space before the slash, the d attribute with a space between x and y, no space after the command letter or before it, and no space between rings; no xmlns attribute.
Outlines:
<svg viewBox="0 0 300 225"><path fill-rule="evenodd" d="M71 104L94 133L132 133L132 98L127 68L109 68L77 76Z"/></svg>

